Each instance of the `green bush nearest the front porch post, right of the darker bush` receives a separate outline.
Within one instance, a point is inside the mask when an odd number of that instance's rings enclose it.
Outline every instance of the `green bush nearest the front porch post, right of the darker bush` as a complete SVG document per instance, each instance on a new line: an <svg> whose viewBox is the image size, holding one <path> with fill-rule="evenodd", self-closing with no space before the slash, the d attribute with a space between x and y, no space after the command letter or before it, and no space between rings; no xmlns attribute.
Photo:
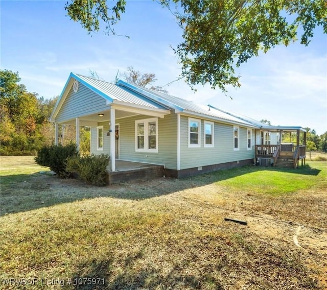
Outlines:
<svg viewBox="0 0 327 290"><path fill-rule="evenodd" d="M101 186L106 184L108 163L108 154L73 156L67 159L66 170L76 172L87 184Z"/></svg>

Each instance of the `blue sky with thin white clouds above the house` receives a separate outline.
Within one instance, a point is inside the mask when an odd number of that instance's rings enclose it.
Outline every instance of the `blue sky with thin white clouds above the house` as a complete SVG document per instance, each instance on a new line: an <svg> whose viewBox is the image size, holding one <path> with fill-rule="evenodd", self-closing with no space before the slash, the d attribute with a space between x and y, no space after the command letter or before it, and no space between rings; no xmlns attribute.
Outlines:
<svg viewBox="0 0 327 290"><path fill-rule="evenodd" d="M44 98L61 93L71 71L113 82L127 66L153 72L157 85L180 74L171 47L182 41L173 15L154 1L128 1L114 27L130 38L87 34L65 15L65 1L0 1L1 69L18 71L28 91ZM309 46L291 43L250 59L239 69L241 88L198 86L194 92L182 80L165 87L180 98L272 125L302 126L327 131L327 35L316 29Z"/></svg>

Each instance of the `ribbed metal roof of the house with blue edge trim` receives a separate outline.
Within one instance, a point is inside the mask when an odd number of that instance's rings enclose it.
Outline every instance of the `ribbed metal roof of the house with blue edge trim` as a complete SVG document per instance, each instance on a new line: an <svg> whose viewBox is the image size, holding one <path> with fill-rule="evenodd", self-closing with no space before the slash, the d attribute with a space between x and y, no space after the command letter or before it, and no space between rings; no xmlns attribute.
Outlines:
<svg viewBox="0 0 327 290"><path fill-rule="evenodd" d="M61 93L60 98L58 99L55 109L51 115L51 119L53 119L56 111L60 107L59 103L60 101L62 102L62 96L67 93L66 89L68 84L72 85L72 78L78 80L90 90L98 93L107 101L108 104L114 103L114 100L117 100L126 103L126 105L134 104L148 107L149 109L175 110L177 113L183 112L191 115L194 114L195 116L207 116L208 118L217 119L221 122L239 124L264 130L306 131L301 127L270 126L247 116L230 113L222 109L215 108L211 105L198 105L192 101L177 98L176 96L162 93L160 91L155 91L138 85L130 84L122 80L119 80L117 84L111 84L103 80L74 74L73 72L71 72L71 75L69 75L63 92Z"/></svg>

